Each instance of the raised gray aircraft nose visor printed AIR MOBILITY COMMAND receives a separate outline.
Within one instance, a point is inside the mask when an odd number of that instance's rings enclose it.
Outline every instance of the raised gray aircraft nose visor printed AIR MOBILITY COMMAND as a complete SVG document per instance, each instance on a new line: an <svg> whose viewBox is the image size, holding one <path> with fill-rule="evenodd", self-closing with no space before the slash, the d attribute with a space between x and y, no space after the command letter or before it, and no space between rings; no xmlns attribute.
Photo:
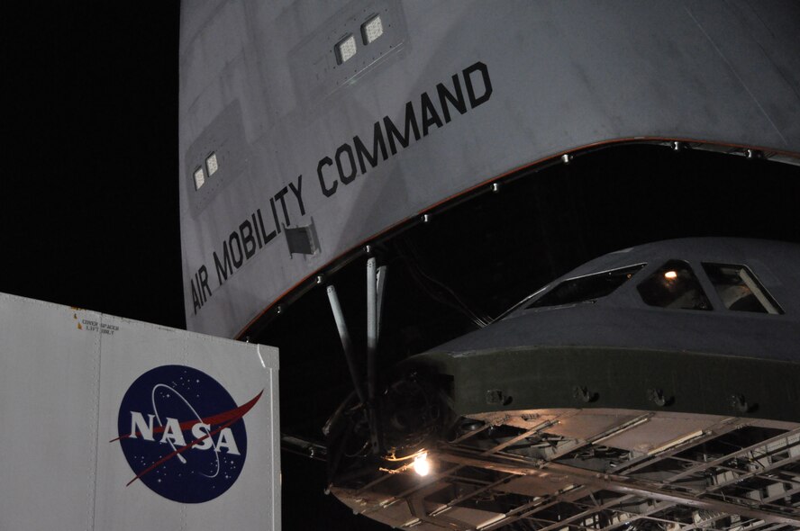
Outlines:
<svg viewBox="0 0 800 531"><path fill-rule="evenodd" d="M684 140L796 161L798 11L692 1L182 5L187 328L240 335L387 229L584 148ZM376 16L383 32L367 44ZM341 61L340 43L354 55Z"/></svg>

